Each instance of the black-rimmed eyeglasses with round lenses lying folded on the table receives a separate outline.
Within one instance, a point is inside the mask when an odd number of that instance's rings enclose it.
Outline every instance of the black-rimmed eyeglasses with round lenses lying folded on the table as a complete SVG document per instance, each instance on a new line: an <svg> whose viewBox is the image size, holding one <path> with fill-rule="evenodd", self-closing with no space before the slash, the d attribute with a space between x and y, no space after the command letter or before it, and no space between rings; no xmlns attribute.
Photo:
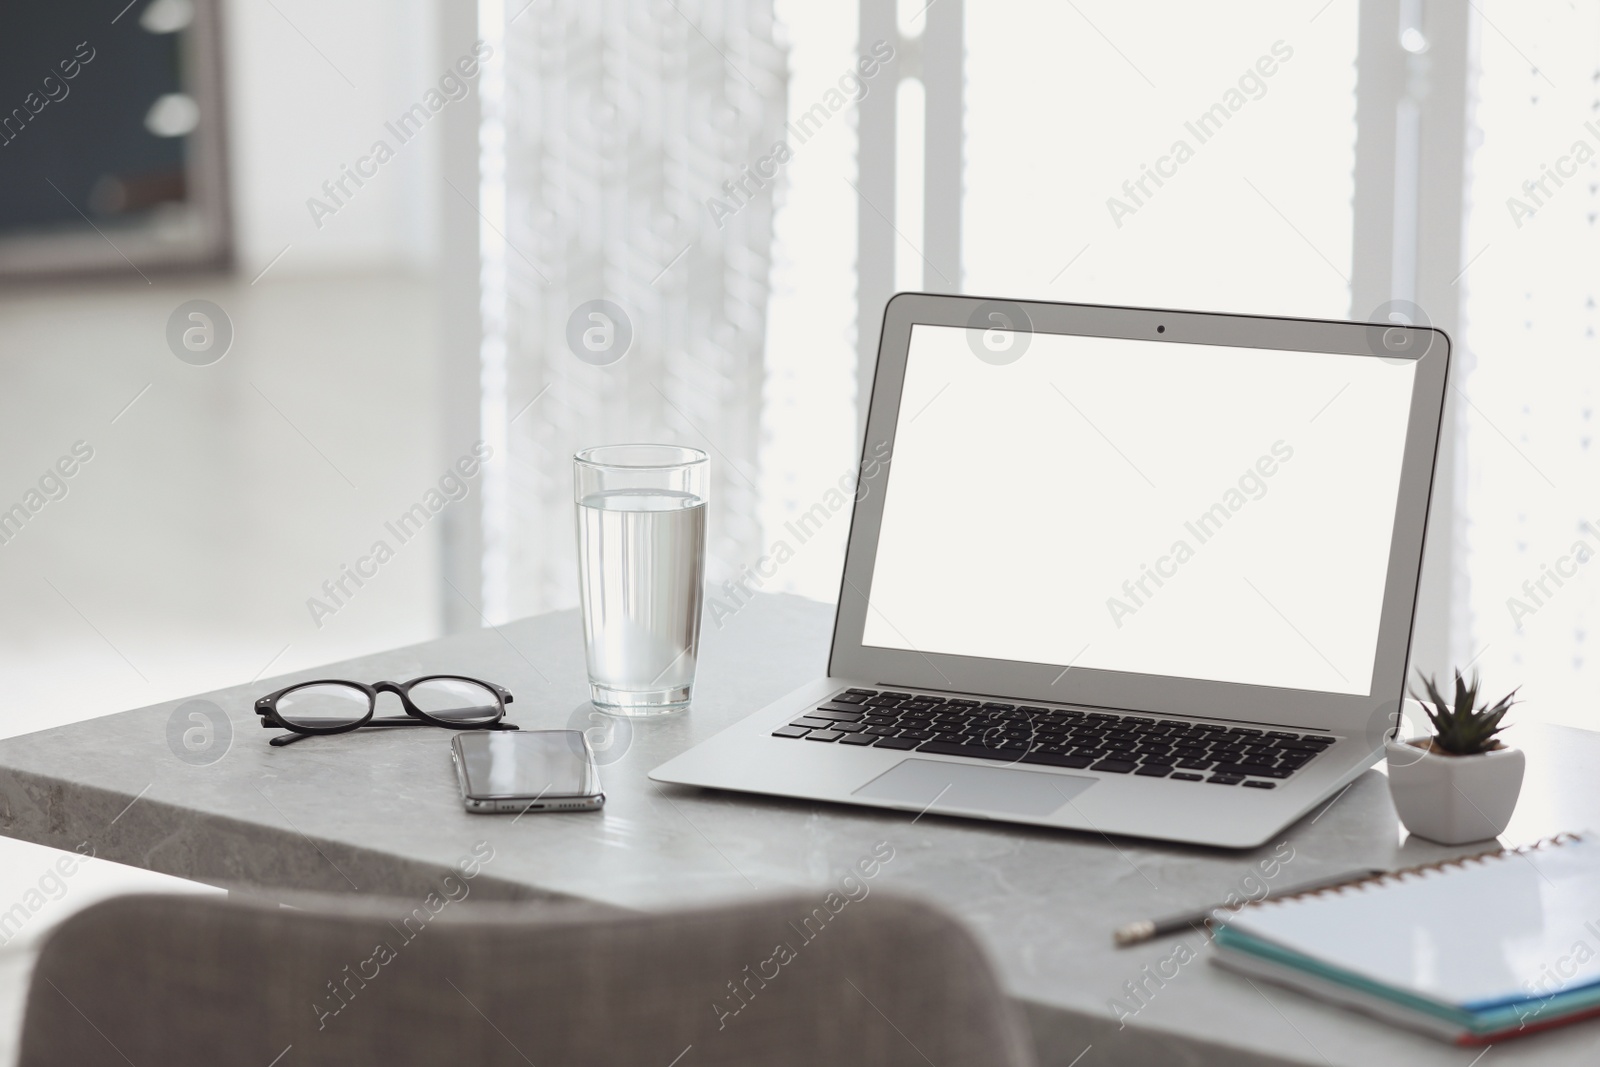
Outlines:
<svg viewBox="0 0 1600 1067"><path fill-rule="evenodd" d="M394 693L405 715L373 718L378 694ZM288 729L277 747L317 734L342 734L362 726L443 726L445 729L517 729L506 718L510 689L461 675L424 675L410 681L301 681L256 701L264 729Z"/></svg>

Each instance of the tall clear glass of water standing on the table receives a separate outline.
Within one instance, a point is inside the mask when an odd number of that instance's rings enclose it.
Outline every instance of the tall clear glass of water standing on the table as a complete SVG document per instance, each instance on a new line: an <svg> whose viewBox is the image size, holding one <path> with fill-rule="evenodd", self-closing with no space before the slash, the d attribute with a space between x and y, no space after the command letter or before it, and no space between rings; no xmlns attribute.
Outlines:
<svg viewBox="0 0 1600 1067"><path fill-rule="evenodd" d="M589 699L605 712L675 712L694 693L709 474L677 445L573 456Z"/></svg>

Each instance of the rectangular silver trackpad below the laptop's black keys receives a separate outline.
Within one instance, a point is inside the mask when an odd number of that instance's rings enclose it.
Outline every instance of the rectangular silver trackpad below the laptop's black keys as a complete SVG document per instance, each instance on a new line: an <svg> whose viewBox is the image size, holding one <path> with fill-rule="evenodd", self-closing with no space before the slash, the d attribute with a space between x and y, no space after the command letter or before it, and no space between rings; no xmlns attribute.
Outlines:
<svg viewBox="0 0 1600 1067"><path fill-rule="evenodd" d="M1048 816L1098 781L1098 777L1021 771L1011 766L902 760L853 795L915 805L925 811L952 808L1008 816Z"/></svg>

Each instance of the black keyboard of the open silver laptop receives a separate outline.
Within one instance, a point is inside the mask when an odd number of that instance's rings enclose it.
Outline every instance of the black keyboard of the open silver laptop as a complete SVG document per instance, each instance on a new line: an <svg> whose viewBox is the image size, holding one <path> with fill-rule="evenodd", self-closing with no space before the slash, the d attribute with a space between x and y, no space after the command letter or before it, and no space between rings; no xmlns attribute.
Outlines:
<svg viewBox="0 0 1600 1067"><path fill-rule="evenodd" d="M893 689L845 689L773 736L1248 789L1274 789L1334 742L1282 729Z"/></svg>

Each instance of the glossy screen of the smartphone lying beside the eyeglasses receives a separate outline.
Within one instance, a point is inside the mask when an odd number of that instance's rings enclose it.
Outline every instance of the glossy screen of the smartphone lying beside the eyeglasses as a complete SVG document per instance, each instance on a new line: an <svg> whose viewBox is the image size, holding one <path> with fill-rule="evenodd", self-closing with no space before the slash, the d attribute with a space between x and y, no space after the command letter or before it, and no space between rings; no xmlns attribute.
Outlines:
<svg viewBox="0 0 1600 1067"><path fill-rule="evenodd" d="M600 792L579 729L517 729L456 739L469 797L586 797Z"/></svg>

